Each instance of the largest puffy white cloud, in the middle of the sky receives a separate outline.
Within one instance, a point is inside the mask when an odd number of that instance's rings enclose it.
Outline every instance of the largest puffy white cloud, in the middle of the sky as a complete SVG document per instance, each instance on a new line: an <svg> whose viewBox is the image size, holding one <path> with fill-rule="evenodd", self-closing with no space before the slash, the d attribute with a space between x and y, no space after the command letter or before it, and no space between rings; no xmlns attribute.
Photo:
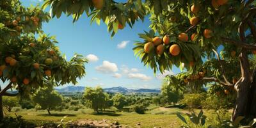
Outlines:
<svg viewBox="0 0 256 128"><path fill-rule="evenodd" d="M106 60L103 61L102 65L95 67L95 69L105 74L118 71L117 65L115 63L111 63Z"/></svg>

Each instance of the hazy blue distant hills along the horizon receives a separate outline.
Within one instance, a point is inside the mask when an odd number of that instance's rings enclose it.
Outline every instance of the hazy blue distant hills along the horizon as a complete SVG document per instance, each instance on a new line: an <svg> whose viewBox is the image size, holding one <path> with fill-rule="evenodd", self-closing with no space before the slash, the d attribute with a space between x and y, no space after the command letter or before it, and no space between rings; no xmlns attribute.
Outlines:
<svg viewBox="0 0 256 128"><path fill-rule="evenodd" d="M58 92L84 92L84 86L67 86L65 88L56 88ZM132 90L128 88L124 88L122 86L112 87L112 88L104 88L105 92L111 93L160 93L158 89L145 89L141 88L138 90Z"/></svg>

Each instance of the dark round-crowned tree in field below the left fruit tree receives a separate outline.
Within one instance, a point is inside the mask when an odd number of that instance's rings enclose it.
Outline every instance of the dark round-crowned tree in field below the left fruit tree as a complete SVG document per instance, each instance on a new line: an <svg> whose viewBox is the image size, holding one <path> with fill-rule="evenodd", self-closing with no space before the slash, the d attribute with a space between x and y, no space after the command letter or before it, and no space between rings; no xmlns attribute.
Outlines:
<svg viewBox="0 0 256 128"><path fill-rule="evenodd" d="M51 115L51 109L60 105L63 97L52 88L40 88L33 95L32 100L35 104L39 104L42 109L47 109L47 112Z"/></svg>

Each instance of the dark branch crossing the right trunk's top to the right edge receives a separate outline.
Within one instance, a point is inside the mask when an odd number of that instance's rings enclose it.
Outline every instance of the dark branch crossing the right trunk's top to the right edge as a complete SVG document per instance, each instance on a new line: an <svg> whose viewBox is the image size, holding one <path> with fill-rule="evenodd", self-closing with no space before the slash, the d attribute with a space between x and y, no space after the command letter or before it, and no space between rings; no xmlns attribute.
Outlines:
<svg viewBox="0 0 256 128"><path fill-rule="evenodd" d="M244 49L256 50L256 45L247 44L246 42L236 41L236 40L232 40L230 38L225 38L225 37L221 37L221 41L226 42L228 44L237 45L238 47L242 47Z"/></svg>

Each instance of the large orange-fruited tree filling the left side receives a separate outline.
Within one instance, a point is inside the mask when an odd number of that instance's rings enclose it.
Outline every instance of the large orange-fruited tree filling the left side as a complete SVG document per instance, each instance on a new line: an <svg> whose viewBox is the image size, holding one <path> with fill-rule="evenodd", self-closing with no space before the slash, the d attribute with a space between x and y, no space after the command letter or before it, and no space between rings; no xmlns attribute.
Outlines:
<svg viewBox="0 0 256 128"><path fill-rule="evenodd" d="M0 1L0 79L7 83L0 88L0 120L3 96L29 95L45 85L76 84L85 74L87 60L75 55L67 61L54 36L42 31L42 22L49 19L41 8L25 8L16 0Z"/></svg>

